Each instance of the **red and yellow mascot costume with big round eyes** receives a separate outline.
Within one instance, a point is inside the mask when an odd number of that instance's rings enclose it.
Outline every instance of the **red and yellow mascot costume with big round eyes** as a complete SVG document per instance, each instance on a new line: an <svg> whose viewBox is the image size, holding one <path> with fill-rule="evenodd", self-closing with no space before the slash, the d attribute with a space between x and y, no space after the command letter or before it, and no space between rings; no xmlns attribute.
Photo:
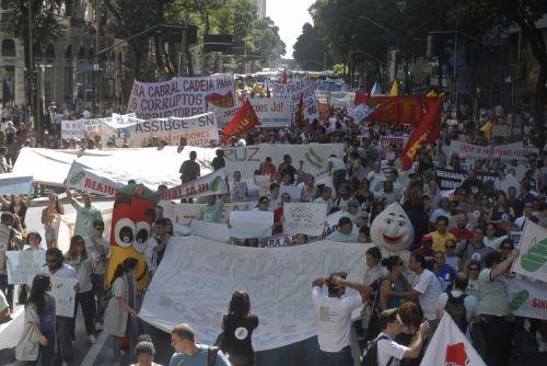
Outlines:
<svg viewBox="0 0 547 366"><path fill-rule="evenodd" d="M135 258L139 261L137 287L141 290L148 286L150 278L144 249L155 219L158 202L159 196L141 184L128 184L116 193L112 213L108 282L118 264L126 258Z"/></svg>

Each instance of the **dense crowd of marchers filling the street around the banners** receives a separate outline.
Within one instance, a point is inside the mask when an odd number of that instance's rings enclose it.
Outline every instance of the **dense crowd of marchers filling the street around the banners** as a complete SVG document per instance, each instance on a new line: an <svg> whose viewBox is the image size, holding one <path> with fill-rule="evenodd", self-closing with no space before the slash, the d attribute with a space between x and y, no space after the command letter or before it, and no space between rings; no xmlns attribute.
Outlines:
<svg viewBox="0 0 547 366"><path fill-rule="evenodd" d="M312 298L319 323L317 365L353 365L359 362L361 348L365 350L363 359L373 357L375 365L418 365L443 311L452 316L489 366L510 365L511 359L525 357L521 353L525 338L533 339L539 352L547 352L544 341L547 341L547 322L513 316L507 293L508 283L515 277L510 271L511 263L519 255L513 235L522 231L527 220L547 227L546 151L531 153L521 175L498 158L466 162L464 156L446 156L443 146L451 140L486 145L488 138L470 121L461 119L457 125L443 121L438 142L423 147L410 174L401 172L400 145L382 148L379 145L382 136L408 136L410 127L353 123L346 108L331 108L322 118L302 126L255 130L228 141L230 146L275 144L281 150L286 144L342 142L346 153L328 158L324 175L331 179L331 184L316 182L319 176L303 170L302 163L293 162L302 157L284 155L279 162L266 158L254 176L235 172L229 194L206 197L197 219L220 222L224 203L251 201L256 195L256 210L274 211L274 235L283 232L282 206L291 199L324 203L328 214L342 213L335 230L322 237L331 241L371 243L370 224L394 202L400 203L414 227L409 259L403 254L383 256L373 247L366 252L363 282L349 282L345 273L326 274L313 282ZM16 150L28 142L24 126L16 129L13 124L4 123L0 135L0 173L10 170ZM527 133L525 139L534 140L533 131ZM185 148L184 139L181 146ZM219 149L212 168L224 165ZM437 168L466 171L466 179L453 192L444 194L435 183ZM490 181L478 178L486 172L494 178ZM183 163L181 174L183 183L200 176L195 153ZM509 175L516 184L504 184ZM266 183L258 182L257 176L266 176ZM257 183L258 194L249 182ZM300 187L300 197L281 194L283 186ZM36 362L39 357L40 365L49 366L57 358L63 365L73 364L74 318L81 308L90 343L96 342L97 332L105 331L113 339L114 362L154 365L153 341L141 334L142 324L137 319L142 297L135 279L138 262L125 260L107 282L109 243L103 237L105 225L101 211L93 206L89 194L83 194L80 203L69 188L66 193L78 213L66 253L56 245L58 233L53 221L63 214L56 194L49 195L42 213L44 239L38 232L25 231L31 197L1 198L0 321L11 319L14 301L25 305L18 359ZM174 235L173 224L163 217L161 206L155 215L146 250L152 274ZM296 235L286 237L284 244L305 244L318 239ZM232 243L265 247L266 240ZM19 286L19 294L8 285L5 251L10 250L46 250L44 273L32 284ZM48 294L49 276L78 279L73 317L55 316L55 299ZM359 295L345 296L346 287ZM172 332L175 355L170 366L253 365L251 338L259 321L251 313L252 295L234 293L219 329L221 351L196 343L189 324L175 327ZM351 312L358 308L362 308L362 319L352 323ZM235 333L242 328L244 335Z"/></svg>

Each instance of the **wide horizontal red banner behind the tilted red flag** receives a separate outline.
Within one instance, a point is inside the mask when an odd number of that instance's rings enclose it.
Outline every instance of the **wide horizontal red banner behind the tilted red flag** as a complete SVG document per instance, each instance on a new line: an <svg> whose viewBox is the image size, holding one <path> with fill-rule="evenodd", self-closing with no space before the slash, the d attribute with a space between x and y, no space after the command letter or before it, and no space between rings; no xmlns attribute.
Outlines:
<svg viewBox="0 0 547 366"><path fill-rule="evenodd" d="M365 95L364 103L366 105L371 107L379 106L376 111L366 117L366 121L417 125L434 101L435 98L419 98L415 95Z"/></svg>

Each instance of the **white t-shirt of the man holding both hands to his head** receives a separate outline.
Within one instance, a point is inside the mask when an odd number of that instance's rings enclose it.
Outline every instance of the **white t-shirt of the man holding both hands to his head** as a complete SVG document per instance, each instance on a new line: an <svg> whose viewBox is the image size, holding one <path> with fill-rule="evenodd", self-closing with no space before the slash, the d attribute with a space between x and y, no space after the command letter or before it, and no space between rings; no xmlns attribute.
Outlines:
<svg viewBox="0 0 547 366"><path fill-rule="evenodd" d="M363 305L361 295L328 297L322 287L315 286L312 299L319 318L317 339L321 351L340 352L349 346L351 312Z"/></svg>

